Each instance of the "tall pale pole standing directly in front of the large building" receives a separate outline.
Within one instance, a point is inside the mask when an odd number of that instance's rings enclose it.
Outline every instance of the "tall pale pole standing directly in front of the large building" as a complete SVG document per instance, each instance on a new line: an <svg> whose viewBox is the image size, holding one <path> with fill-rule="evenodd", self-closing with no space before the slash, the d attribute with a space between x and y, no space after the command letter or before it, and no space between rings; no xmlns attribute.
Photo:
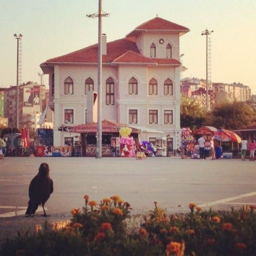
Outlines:
<svg viewBox="0 0 256 256"><path fill-rule="evenodd" d="M99 11L86 15L90 18L98 17L98 118L97 118L97 153L96 158L102 158L102 17L108 17L102 12L102 0L99 0Z"/></svg>

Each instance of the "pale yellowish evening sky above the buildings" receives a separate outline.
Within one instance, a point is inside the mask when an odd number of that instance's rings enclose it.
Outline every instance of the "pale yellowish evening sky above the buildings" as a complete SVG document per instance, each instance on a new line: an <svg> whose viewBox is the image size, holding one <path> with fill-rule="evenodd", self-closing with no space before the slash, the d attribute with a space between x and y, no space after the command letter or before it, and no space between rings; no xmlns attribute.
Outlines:
<svg viewBox="0 0 256 256"><path fill-rule="evenodd" d="M213 30L212 82L240 82L256 94L256 0L102 0L107 41L161 17L188 27L180 37L187 70L182 77L206 78L206 36ZM40 64L98 42L98 0L0 0L0 87L16 85L17 40L22 34L22 82L40 84ZM48 76L44 76L48 86Z"/></svg>

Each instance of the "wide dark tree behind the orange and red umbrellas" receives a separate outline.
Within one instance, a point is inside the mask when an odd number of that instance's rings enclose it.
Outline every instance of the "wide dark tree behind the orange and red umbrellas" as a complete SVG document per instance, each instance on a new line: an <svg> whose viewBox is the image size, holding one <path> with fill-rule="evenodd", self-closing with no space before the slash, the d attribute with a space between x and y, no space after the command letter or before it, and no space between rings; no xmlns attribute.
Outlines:
<svg viewBox="0 0 256 256"><path fill-rule="evenodd" d="M255 107L245 102L223 102L207 114L207 125L228 130L248 127L256 122Z"/></svg>

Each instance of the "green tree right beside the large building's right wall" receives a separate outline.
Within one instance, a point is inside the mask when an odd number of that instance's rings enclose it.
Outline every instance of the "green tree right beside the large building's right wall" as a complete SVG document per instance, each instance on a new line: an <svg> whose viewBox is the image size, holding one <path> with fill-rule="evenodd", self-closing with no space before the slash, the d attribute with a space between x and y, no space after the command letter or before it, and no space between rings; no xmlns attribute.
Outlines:
<svg viewBox="0 0 256 256"><path fill-rule="evenodd" d="M180 126L189 127L193 131L204 125L205 119L205 112L198 102L183 97L180 104Z"/></svg>

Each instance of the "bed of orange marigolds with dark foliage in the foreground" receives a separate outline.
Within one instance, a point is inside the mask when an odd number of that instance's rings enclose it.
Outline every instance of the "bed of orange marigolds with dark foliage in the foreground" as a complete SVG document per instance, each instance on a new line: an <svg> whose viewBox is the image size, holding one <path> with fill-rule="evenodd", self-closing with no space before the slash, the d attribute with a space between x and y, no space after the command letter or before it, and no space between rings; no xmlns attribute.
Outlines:
<svg viewBox="0 0 256 256"><path fill-rule="evenodd" d="M203 211L189 204L188 214L168 214L154 202L140 227L128 227L130 205L119 196L99 204L84 196L68 225L37 225L35 234L18 234L1 244L0 255L256 255L255 206L230 212Z"/></svg>

